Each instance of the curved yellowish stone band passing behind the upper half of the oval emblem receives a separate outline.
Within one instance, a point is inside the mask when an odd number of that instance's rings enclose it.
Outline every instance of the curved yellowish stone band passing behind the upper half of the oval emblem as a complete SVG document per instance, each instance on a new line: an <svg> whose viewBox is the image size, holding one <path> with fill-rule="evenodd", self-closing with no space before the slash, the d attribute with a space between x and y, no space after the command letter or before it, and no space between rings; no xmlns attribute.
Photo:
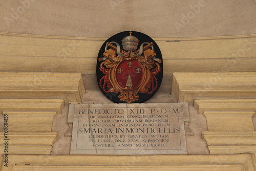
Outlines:
<svg viewBox="0 0 256 171"><path fill-rule="evenodd" d="M0 47L0 56L50 57L52 61L56 60L58 62L66 61L67 58L76 58L76 60L80 60L80 58L88 58L90 60L92 58L97 60L99 50L105 40L2 36L2 39L0 39L2 45ZM235 57L243 59L256 56L256 48L253 48L254 46L256 47L256 37L181 40L179 42L156 41L156 43L161 50L164 61L177 59L228 59ZM233 60L228 61L230 65L234 62ZM86 65L86 63L84 64Z"/></svg>

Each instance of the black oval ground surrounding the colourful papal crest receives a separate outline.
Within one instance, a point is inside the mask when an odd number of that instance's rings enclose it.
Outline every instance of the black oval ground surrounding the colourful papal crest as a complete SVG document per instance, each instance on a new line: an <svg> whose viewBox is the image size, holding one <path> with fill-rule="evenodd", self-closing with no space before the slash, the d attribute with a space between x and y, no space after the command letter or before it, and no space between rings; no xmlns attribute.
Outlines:
<svg viewBox="0 0 256 171"><path fill-rule="evenodd" d="M105 52L106 42L116 41L116 42L118 42L118 44L120 45L120 47L122 49L122 41L121 40L124 37L129 36L129 35L130 35L130 31L123 31L123 32L117 33L114 36L110 37L108 40L106 40L104 42L104 44L101 46L101 48L99 50L98 58L97 58L97 68L96 68L98 86L99 86L100 78L102 76L104 76L104 74L99 70L99 66L100 66L101 62L99 62L98 59L103 57L102 54ZM150 36L148 36L146 34L143 34L141 32L136 32L136 31L132 31L132 35L139 39L139 45L138 45L137 49L139 49L140 45L143 42L153 42L154 43L154 51L157 54L156 58L159 58L159 59L162 60L162 62L159 63L160 67L161 67L161 71L156 75L156 78L158 80L158 88L152 94L138 93L139 99L137 101L131 102L131 103L141 103L141 102L144 102L144 101L150 99L158 91L159 87L161 86L162 79L163 79L163 58L162 58L162 54L161 54L161 51L160 51L158 45L156 44L156 42ZM110 99L111 101L114 101L115 103L126 103L125 101L120 101L119 100L118 96L120 95L120 93L117 93L117 94L116 93L112 93L112 92L105 93L100 88L100 86L99 86L99 89L106 96L106 98Z"/></svg>

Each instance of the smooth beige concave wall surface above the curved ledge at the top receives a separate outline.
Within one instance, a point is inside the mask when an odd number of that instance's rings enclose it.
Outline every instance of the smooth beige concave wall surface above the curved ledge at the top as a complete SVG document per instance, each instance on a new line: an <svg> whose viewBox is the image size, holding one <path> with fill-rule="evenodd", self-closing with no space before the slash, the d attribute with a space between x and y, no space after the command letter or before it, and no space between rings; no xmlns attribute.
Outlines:
<svg viewBox="0 0 256 171"><path fill-rule="evenodd" d="M0 1L0 31L110 37L124 30L134 30L151 37L168 38L256 33L253 0L29 1L31 3L24 3L25 10L20 2L28 1ZM196 8L196 12L190 6Z"/></svg>

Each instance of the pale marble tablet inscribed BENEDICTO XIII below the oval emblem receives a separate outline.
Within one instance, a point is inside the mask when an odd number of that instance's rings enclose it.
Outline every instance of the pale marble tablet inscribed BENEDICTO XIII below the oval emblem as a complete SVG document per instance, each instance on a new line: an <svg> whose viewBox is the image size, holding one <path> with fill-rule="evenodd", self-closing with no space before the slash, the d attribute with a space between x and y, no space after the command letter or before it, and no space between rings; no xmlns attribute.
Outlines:
<svg viewBox="0 0 256 171"><path fill-rule="evenodd" d="M182 103L70 104L71 154L186 154Z"/></svg>

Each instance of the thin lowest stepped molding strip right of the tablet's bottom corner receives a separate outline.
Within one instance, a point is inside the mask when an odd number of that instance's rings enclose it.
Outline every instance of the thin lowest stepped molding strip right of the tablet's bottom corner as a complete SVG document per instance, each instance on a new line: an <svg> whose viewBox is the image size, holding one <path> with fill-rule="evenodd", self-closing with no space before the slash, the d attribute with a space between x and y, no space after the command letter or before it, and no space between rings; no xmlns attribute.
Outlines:
<svg viewBox="0 0 256 171"><path fill-rule="evenodd" d="M210 154L256 154L256 145L209 145Z"/></svg>

